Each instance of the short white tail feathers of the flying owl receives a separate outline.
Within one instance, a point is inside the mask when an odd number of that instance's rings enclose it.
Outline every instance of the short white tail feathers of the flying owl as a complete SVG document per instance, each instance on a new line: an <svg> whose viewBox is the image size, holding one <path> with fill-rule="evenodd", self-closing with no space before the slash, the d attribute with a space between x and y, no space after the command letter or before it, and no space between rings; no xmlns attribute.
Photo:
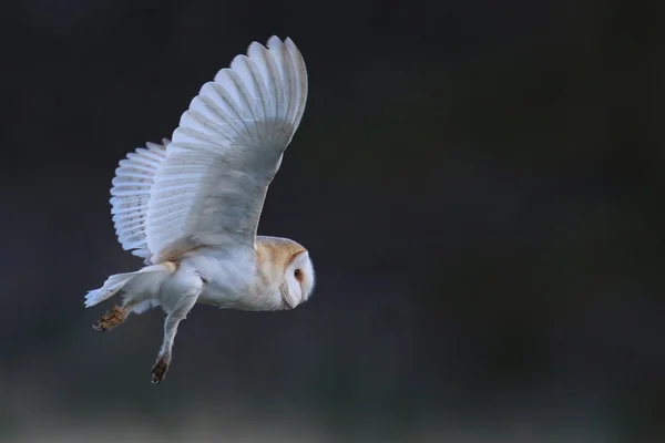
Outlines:
<svg viewBox="0 0 665 443"><path fill-rule="evenodd" d="M90 308L113 297L119 291L125 296L125 302L136 305L157 296L160 286L175 272L176 266L172 262L146 266L135 272L116 274L104 281L104 286L94 289L85 296L85 307Z"/></svg>

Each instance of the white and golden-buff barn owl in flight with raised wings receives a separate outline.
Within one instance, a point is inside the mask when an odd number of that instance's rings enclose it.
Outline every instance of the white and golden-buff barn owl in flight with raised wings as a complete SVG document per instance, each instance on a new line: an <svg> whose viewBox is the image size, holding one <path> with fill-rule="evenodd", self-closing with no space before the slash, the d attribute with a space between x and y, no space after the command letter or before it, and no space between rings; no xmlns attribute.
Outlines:
<svg viewBox="0 0 665 443"><path fill-rule="evenodd" d="M307 71L290 39L253 42L246 55L203 85L172 140L146 143L120 161L111 213L123 249L144 259L85 296L115 295L93 328L108 331L132 312L161 307L164 336L152 368L160 383L178 324L196 303L244 310L293 309L314 290L308 250L257 236L268 185L279 169L307 100Z"/></svg>

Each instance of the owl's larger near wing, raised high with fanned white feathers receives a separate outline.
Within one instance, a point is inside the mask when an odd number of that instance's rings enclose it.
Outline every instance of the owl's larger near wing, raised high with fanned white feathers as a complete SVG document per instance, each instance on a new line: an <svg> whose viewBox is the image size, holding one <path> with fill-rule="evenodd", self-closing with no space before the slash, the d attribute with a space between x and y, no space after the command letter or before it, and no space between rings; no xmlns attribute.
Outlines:
<svg viewBox="0 0 665 443"><path fill-rule="evenodd" d="M254 248L268 185L298 128L307 71L290 39L247 55L207 82L182 115L150 189L152 261L200 246Z"/></svg>

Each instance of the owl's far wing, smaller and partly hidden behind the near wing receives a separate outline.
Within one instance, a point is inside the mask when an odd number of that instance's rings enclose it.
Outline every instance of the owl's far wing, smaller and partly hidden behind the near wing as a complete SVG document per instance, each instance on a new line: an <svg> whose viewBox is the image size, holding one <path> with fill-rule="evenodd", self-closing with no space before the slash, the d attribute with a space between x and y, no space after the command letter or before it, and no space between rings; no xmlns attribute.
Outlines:
<svg viewBox="0 0 665 443"><path fill-rule="evenodd" d="M146 143L120 161L111 187L111 214L117 240L123 249L132 250L137 257L150 260L147 248L145 216L153 177L160 164L166 158L166 146L171 143L163 138L162 144Z"/></svg>

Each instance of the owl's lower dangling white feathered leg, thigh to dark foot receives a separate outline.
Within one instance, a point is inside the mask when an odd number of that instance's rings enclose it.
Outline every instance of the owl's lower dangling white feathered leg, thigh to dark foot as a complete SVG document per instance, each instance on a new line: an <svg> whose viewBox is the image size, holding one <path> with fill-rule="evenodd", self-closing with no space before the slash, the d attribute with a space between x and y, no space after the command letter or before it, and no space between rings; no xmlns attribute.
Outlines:
<svg viewBox="0 0 665 443"><path fill-rule="evenodd" d="M152 383L160 383L168 371L171 364L171 356L173 350L173 342L177 333L177 327L180 322L187 318L187 313L192 310L196 300L203 289L203 280L201 276L192 270L178 271L176 281L170 282L167 292L174 289L187 288L185 292L180 292L180 297L168 297L166 293L164 299L161 300L162 307L166 311L167 316L164 320L164 339L162 341L162 348L157 354L157 361L152 369ZM172 292L173 293L173 292Z"/></svg>

